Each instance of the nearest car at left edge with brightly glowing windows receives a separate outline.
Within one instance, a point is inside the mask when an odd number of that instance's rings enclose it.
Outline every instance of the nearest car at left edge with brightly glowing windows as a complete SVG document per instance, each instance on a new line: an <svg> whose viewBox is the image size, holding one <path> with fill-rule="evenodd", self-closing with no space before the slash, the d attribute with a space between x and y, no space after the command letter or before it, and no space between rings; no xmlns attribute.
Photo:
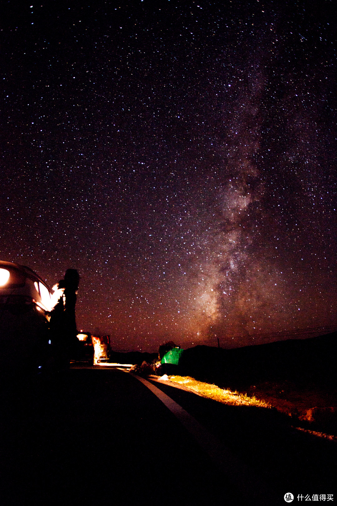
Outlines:
<svg viewBox="0 0 337 506"><path fill-rule="evenodd" d="M50 360L51 294L29 267L0 261L0 373L39 373Z"/></svg>

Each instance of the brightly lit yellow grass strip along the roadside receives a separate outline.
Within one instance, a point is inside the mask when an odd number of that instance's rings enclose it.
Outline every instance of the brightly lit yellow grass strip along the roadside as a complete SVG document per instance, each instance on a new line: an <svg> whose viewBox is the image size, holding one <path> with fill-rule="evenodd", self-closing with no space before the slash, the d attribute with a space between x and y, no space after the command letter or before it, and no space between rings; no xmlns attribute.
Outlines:
<svg viewBox="0 0 337 506"><path fill-rule="evenodd" d="M268 402L257 399L255 396L248 397L247 394L239 394L236 391L232 392L231 390L224 390L216 385L210 385L209 383L197 381L197 379L191 378L190 376L169 376L169 379L173 383L183 385L187 390L190 390L195 394L207 397L208 399L214 399L215 401L222 402L223 404L230 404L232 406L271 407Z"/></svg>

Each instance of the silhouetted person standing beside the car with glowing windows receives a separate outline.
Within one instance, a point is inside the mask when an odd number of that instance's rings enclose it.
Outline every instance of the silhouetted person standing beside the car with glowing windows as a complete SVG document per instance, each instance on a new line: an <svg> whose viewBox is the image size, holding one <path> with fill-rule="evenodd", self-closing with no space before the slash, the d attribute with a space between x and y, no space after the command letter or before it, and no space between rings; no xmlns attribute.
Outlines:
<svg viewBox="0 0 337 506"><path fill-rule="evenodd" d="M52 296L50 333L61 368L69 367L70 358L76 358L78 340L75 318L76 292L79 285L76 269L67 269Z"/></svg>

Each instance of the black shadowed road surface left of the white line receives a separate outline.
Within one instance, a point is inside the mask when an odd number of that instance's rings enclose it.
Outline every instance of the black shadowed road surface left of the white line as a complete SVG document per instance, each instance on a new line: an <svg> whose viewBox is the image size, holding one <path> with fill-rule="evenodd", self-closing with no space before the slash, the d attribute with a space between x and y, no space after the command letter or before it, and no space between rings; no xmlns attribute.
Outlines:
<svg viewBox="0 0 337 506"><path fill-rule="evenodd" d="M2 504L240 503L239 491L129 374L73 369L3 387Z"/></svg>

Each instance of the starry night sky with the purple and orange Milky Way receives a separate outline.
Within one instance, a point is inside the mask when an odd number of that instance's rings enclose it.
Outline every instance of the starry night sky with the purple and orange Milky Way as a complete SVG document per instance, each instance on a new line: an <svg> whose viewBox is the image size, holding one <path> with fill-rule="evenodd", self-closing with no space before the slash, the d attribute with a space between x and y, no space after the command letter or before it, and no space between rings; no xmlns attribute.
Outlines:
<svg viewBox="0 0 337 506"><path fill-rule="evenodd" d="M337 328L334 2L3 6L2 260L115 349Z"/></svg>

